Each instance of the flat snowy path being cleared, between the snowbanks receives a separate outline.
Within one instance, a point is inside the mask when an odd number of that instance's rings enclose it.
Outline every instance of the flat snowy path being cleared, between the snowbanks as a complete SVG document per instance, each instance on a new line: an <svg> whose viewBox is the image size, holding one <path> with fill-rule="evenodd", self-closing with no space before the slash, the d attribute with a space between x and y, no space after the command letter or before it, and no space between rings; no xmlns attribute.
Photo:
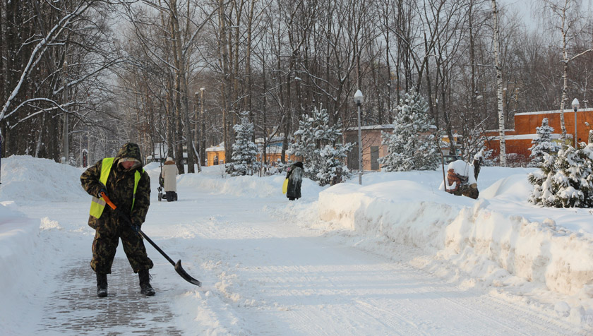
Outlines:
<svg viewBox="0 0 593 336"><path fill-rule="evenodd" d="M50 279L35 307L16 323L23 335L31 330L97 335L104 326L109 335L149 330L155 335L579 333L541 311L413 268L407 263L413 251L405 246L390 246L395 257L385 258L353 246L352 239L286 221L278 215L288 206L285 198L186 187L180 188L179 199L157 202L153 193L143 231L174 260L181 258L204 286L184 282L147 243L155 262L157 295L152 298L138 294L137 277L121 246L109 277L110 297L94 296L88 200L21 207L29 217L48 217L40 235L48 255L42 270Z"/></svg>

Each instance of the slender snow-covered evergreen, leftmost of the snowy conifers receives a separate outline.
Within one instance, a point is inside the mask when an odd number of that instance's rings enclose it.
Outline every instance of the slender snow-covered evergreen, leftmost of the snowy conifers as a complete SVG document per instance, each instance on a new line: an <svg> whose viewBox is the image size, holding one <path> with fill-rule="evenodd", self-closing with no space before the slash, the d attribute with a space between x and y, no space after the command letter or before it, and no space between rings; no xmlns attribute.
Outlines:
<svg viewBox="0 0 593 336"><path fill-rule="evenodd" d="M241 113L241 124L235 124L235 143L233 143L232 162L227 163L227 173L232 176L252 175L256 164L258 148L253 138L253 123L249 122L248 112Z"/></svg>

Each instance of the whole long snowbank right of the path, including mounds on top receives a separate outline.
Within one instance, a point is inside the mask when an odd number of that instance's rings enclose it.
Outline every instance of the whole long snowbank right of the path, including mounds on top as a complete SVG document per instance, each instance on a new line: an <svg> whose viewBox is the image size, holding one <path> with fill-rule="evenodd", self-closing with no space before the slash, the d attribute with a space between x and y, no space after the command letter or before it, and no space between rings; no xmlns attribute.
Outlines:
<svg viewBox="0 0 593 336"><path fill-rule="evenodd" d="M480 177L498 174L497 170L485 167ZM421 248L486 287L525 285L527 280L538 290L563 296L572 308L571 318L593 316L589 212L529 205L527 174L499 179L472 200L435 192L435 173L426 172L420 183L411 181L415 176L410 172L403 179L395 177L399 173L371 175L363 186L339 184L322 191L316 207L326 229Z"/></svg>

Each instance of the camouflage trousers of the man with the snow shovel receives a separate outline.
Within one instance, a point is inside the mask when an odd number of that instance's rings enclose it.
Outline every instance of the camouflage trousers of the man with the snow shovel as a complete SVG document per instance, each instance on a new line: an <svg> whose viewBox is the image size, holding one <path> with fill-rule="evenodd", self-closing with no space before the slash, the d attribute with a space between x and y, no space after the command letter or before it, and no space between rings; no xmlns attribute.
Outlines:
<svg viewBox="0 0 593 336"><path fill-rule="evenodd" d="M130 228L117 231L119 232L104 230L95 232L95 240L92 241L92 260L90 261L92 270L97 273L111 273L113 258L120 238L134 273L152 268L152 260L146 254L146 248L140 235Z"/></svg>

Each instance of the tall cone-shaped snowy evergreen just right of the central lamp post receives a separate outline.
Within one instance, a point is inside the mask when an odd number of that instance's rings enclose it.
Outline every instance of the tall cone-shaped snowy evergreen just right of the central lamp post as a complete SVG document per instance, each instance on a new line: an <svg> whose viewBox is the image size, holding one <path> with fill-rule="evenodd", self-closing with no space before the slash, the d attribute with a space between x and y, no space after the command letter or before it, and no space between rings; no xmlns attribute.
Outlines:
<svg viewBox="0 0 593 336"><path fill-rule="evenodd" d="M381 133L388 155L378 161L385 172L436 169L438 145L431 132L429 105L418 92L406 93L397 106L393 133Z"/></svg>

